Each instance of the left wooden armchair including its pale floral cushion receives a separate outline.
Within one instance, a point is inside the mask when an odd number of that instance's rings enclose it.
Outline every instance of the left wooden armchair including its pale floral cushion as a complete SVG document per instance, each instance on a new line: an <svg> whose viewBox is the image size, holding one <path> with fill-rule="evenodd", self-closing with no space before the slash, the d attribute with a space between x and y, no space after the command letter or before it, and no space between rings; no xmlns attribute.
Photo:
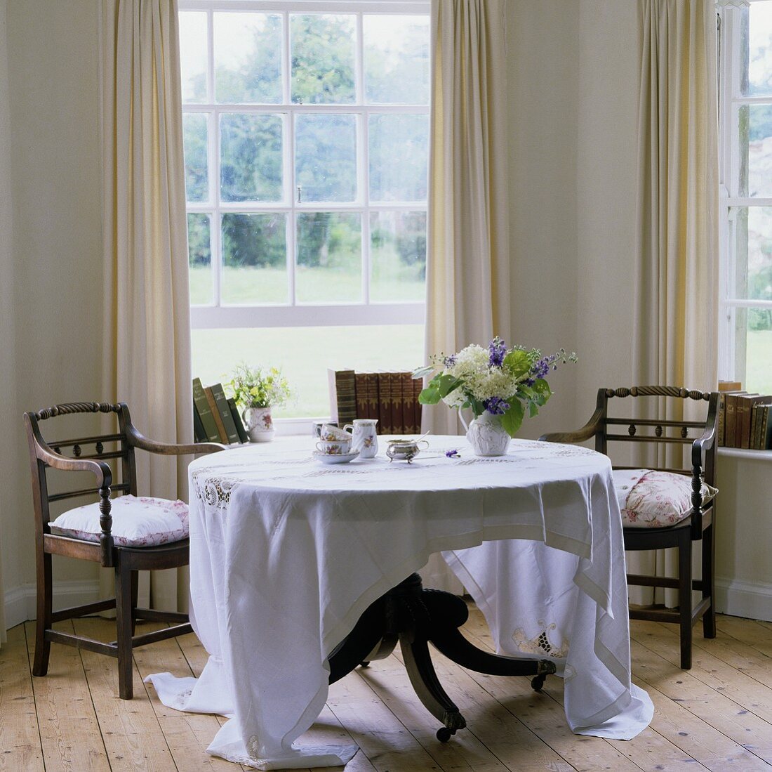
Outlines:
<svg viewBox="0 0 772 772"><path fill-rule="evenodd" d="M113 434L90 434L77 439L43 439L40 433L42 421L77 413L115 413L117 431ZM137 498L134 451L140 449L164 455L200 454L221 451L224 446L214 443L174 445L148 440L132 425L129 410L124 403L78 402L55 405L38 413L25 413L24 423L32 464L37 563L38 611L32 673L46 675L48 672L52 641L97 651L117 658L120 698L131 699L134 694L132 649L191 631L187 614L137 608L138 571L187 565L188 515L187 505L182 502ZM120 482L113 482L117 475L113 475L108 462L120 462ZM49 479L51 469L56 470L56 473L50 475ZM96 478L93 487L82 487L83 472L93 474ZM49 483L56 483L58 492L51 492ZM73 488L73 485L78 487ZM123 495L115 498L116 493ZM55 522L49 523L49 506L52 503L69 498L93 499L96 496L99 498L98 503L68 510L59 515ZM112 567L115 570L115 597L52 611L52 555L91 560L101 566ZM117 641L112 643L52 628L56 621L83 617L111 608L116 610L117 618ZM135 636L137 619L175 624L174 627Z"/></svg>

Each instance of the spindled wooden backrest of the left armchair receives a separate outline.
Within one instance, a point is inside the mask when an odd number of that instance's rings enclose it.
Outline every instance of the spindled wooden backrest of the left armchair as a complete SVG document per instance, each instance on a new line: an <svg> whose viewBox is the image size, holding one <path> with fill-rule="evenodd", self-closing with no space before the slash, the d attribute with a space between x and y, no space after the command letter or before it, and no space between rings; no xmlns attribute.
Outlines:
<svg viewBox="0 0 772 772"><path fill-rule="evenodd" d="M46 440L40 424L54 418L76 413L115 413L117 431L108 434L92 432L83 437L63 437ZM32 497L36 514L36 537L49 534L50 505L68 498L100 497L100 512L110 518L110 494L137 494L137 466L134 460L134 444L127 436L131 426L129 409L124 403L97 402L65 403L47 407L37 413L25 413L24 422L29 443L32 471ZM52 422L57 423L57 422ZM62 423L59 421L58 423ZM48 427L47 427L48 428ZM49 471L90 472L96 476L95 484L83 487L82 475L57 474L54 485L49 485ZM117 482L120 471L120 482ZM49 488L54 488L52 492ZM111 546L111 545L110 545ZM105 545L107 548L108 545Z"/></svg>

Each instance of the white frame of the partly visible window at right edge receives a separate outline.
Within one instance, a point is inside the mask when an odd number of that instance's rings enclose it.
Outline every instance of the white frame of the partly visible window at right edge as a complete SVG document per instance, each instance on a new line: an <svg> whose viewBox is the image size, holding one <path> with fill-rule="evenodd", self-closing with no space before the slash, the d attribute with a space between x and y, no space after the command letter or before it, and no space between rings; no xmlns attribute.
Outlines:
<svg viewBox="0 0 772 772"><path fill-rule="evenodd" d="M761 0L747 0L748 4ZM721 3L719 2L719 5ZM740 94L740 8L738 3L720 7L719 13L719 136L720 136L720 303L719 375L722 379L746 379L744 336L736 335L740 309L772 308L772 301L737 298L734 294L736 263L736 213L738 207L772 206L772 198L739 195L739 112L743 105L770 104L772 97ZM738 339L740 338L740 339Z"/></svg>

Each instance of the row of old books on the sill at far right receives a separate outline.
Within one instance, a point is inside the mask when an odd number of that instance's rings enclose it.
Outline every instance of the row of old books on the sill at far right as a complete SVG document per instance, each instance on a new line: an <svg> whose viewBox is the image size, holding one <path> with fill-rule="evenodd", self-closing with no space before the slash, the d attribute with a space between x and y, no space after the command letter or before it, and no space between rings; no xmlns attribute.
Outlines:
<svg viewBox="0 0 772 772"><path fill-rule="evenodd" d="M720 384L720 388L722 385ZM720 447L746 447L756 451L772 449L770 408L770 394L749 394L743 389L723 390L718 420Z"/></svg>

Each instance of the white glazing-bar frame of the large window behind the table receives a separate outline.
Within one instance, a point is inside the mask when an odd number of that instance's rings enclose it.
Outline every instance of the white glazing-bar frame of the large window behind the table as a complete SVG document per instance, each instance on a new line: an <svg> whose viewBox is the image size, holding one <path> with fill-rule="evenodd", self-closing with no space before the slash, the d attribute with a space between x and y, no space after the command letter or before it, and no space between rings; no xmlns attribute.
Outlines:
<svg viewBox="0 0 772 772"><path fill-rule="evenodd" d="M209 305L191 304L191 328L269 328L269 327L318 327L323 325L389 325L424 324L425 302L371 301L370 287L370 213L385 211L425 212L427 202L374 203L369 199L369 168L364 151L368 147L368 118L376 114L426 114L429 107L418 104L366 104L364 101L364 67L362 56L363 16L365 14L428 15L428 0L180 0L180 11L202 11L208 15L208 62L207 90L214 99L213 25L214 12L259 11L283 15L283 103L282 104L207 104L185 103L184 114L208 114L208 202L188 202L188 213L211 215L210 244L212 247L212 281L215 301ZM290 13L347 13L353 14L356 24L355 61L356 97L353 104L292 104L291 67L289 48ZM284 151L283 202L279 204L220 202L215 195L219 180L219 166L215 148L219 147L219 117L227 113L279 114L283 116ZM350 203L297 201L293 159L294 116L303 113L353 114L357 121L357 200ZM286 214L287 270L289 276L289 304L273 305L221 305L219 284L221 277L221 226L223 213L259 213L269 211ZM299 303L294 298L294 263L296 260L296 216L303 212L352 212L362 216L362 300L334 304Z"/></svg>

